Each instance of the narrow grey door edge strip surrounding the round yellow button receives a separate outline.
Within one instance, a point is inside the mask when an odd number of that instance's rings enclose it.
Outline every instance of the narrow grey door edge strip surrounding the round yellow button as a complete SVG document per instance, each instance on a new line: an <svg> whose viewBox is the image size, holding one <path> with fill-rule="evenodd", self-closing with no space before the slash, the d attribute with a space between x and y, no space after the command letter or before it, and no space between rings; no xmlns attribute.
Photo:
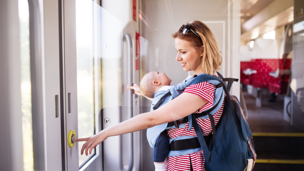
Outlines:
<svg viewBox="0 0 304 171"><path fill-rule="evenodd" d="M65 71L65 139L70 130L76 131L78 138L78 108L77 108L77 61L76 61L76 2L74 0L64 1L64 71ZM70 98L71 113L68 110L68 93L74 98ZM67 140L65 141L67 142ZM68 171L78 170L78 143L70 148L65 143L66 168Z"/></svg>

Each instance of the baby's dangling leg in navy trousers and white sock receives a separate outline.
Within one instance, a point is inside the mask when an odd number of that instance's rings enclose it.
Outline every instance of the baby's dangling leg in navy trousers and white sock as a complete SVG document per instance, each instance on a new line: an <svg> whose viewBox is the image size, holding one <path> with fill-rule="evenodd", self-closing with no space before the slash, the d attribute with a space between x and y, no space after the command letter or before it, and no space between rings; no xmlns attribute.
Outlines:
<svg viewBox="0 0 304 171"><path fill-rule="evenodd" d="M164 131L159 135L154 145L153 161L155 171L165 171L165 159L169 151L169 140L167 133Z"/></svg>

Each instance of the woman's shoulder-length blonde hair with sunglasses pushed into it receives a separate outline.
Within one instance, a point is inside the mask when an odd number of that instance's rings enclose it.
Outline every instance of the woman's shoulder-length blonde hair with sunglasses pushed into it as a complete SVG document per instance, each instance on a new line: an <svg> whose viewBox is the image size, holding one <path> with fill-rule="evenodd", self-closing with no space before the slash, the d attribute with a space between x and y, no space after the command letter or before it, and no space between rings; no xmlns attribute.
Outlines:
<svg viewBox="0 0 304 171"><path fill-rule="evenodd" d="M172 37L174 39L178 38L190 42L191 46L197 50L200 50L204 45L202 70L208 75L213 75L217 70L221 69L220 66L222 65L222 55L219 52L219 46L212 31L201 21L189 21L187 24L192 26L192 30L197 32L202 41L192 31L182 33L181 30L178 30L178 32L172 34Z"/></svg>

